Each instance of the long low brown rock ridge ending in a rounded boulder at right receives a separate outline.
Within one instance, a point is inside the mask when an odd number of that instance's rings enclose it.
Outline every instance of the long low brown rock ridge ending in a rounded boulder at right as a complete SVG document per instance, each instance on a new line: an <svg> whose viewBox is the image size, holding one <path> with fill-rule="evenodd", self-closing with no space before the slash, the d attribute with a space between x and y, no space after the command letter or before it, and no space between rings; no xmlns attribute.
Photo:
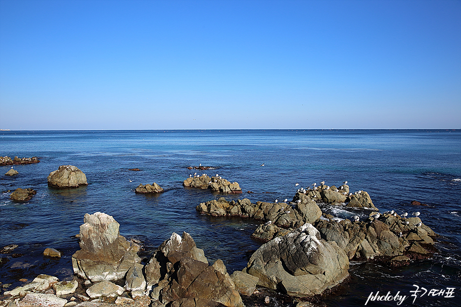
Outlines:
<svg viewBox="0 0 461 307"><path fill-rule="evenodd" d="M322 215L322 211L314 201L296 204L295 208L287 203L251 203L247 198L237 201L226 201L224 198L200 203L197 211L201 214L223 216L237 215L271 221L284 228L299 227L306 222L314 222Z"/></svg>

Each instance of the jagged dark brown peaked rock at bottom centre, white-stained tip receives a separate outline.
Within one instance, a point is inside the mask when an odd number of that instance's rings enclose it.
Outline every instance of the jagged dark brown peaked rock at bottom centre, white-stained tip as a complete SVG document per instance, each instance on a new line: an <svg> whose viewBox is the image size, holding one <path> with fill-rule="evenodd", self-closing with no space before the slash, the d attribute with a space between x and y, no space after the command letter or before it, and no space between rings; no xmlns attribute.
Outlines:
<svg viewBox="0 0 461 307"><path fill-rule="evenodd" d="M221 260L212 265L184 232L173 233L145 266L146 279L154 287L151 297L168 306L243 306ZM198 304L198 305L197 305Z"/></svg>

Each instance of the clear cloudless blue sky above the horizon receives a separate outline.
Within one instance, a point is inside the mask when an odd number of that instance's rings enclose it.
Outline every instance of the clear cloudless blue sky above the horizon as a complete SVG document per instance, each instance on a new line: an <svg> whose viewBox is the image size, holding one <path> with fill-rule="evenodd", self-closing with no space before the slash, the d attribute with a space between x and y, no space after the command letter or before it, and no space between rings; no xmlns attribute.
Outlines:
<svg viewBox="0 0 461 307"><path fill-rule="evenodd" d="M461 1L0 0L0 128L461 128Z"/></svg>

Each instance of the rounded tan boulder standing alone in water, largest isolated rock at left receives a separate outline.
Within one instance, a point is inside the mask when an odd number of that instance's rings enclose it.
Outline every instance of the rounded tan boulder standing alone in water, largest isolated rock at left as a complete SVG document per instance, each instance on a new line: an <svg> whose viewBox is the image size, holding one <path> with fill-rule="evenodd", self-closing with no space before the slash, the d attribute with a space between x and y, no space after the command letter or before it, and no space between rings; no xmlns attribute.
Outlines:
<svg viewBox="0 0 461 307"><path fill-rule="evenodd" d="M48 175L48 185L59 188L88 185L85 174L73 165L61 165Z"/></svg>

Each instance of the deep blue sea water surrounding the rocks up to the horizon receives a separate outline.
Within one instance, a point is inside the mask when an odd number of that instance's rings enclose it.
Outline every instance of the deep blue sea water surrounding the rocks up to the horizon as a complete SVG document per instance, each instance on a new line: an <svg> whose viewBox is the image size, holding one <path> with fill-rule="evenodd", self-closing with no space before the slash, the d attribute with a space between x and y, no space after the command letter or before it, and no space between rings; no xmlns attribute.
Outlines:
<svg viewBox="0 0 461 307"><path fill-rule="evenodd" d="M351 280L319 304L364 306L371 292L408 298L399 306L454 306L461 287L461 130L108 130L1 131L0 154L37 156L39 163L17 165L18 175L3 174L0 191L32 187L27 203L0 194L0 247L17 244L17 258L0 267L0 281L50 274L72 278L71 256L79 249L75 235L86 213L104 212L120 223L120 233L145 245L145 254L172 232L186 231L210 262L222 259L228 272L242 270L261 244L250 235L261 223L236 217L199 215L200 202L225 197L252 202L291 200L295 184L307 187L347 180L352 191L365 190L380 211L421 212L421 219L439 237L433 259L390 268L376 263L351 263ZM208 171L188 166L213 166ZM264 166L261 164L264 163ZM60 165L75 165L89 185L53 189L47 176ZM141 171L130 171L139 168ZM182 182L194 172L218 173L238 182L244 193L220 195L186 189ZM132 182L130 182L130 180ZM159 195L134 193L138 184L160 184ZM251 190L254 193L247 194ZM418 200L428 206L412 206ZM369 212L320 205L324 212L347 218ZM46 247L63 258L42 256ZM23 255L21 255L23 254ZM410 297L416 286L455 288L453 298ZM428 291L429 292L429 291ZM412 304L415 299L414 304ZM274 305L276 306L276 305ZM395 301L370 301L367 306L397 306Z"/></svg>

